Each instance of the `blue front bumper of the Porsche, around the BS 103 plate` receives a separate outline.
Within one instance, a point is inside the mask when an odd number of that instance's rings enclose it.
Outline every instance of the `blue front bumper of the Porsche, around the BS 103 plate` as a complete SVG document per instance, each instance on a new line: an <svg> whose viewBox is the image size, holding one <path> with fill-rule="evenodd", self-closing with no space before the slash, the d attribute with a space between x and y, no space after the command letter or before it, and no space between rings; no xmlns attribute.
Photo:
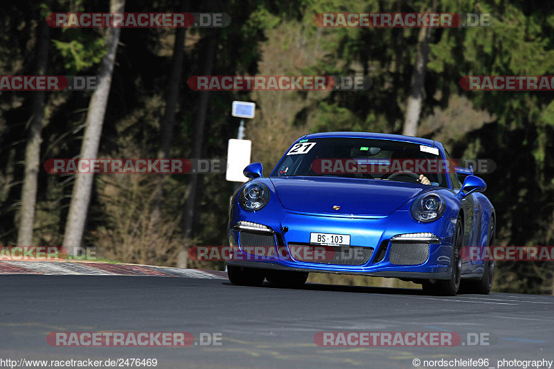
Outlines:
<svg viewBox="0 0 554 369"><path fill-rule="evenodd" d="M240 208L233 211L231 225L243 220L267 226L269 230L232 226L228 238L232 253L226 264L414 280L449 279L451 276L452 235L456 219L422 223L413 219L409 210L397 210L379 217L296 213L284 209L278 212L278 217L275 215L274 211L251 213ZM312 232L350 235L351 246L311 246ZM393 238L411 233L432 233L438 239L406 242ZM299 257L298 250L314 247L323 247L334 255L348 256L352 251L360 251L361 258L349 260L341 256L310 260L305 255ZM258 253L259 249L265 251ZM310 255L313 257L313 253Z"/></svg>

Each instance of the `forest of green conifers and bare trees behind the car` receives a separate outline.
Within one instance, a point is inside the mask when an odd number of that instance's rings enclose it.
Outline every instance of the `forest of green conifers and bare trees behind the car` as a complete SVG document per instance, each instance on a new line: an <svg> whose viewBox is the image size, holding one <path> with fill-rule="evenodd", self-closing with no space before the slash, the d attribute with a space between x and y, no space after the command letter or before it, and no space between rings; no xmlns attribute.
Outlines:
<svg viewBox="0 0 554 369"><path fill-rule="evenodd" d="M4 0L0 75L97 76L87 91L0 91L0 243L80 245L105 260L188 260L224 245L236 183L211 174L51 174L55 158L220 159L240 119L265 174L296 138L332 131L440 141L480 174L497 244L554 242L554 92L471 91L468 75L554 75L554 3L499 0ZM224 13L222 27L56 28L53 12ZM321 27L323 12L458 12L488 26ZM197 75L359 75L359 91L195 91ZM92 125L100 122L100 125ZM551 262L499 262L494 291L554 294Z"/></svg>

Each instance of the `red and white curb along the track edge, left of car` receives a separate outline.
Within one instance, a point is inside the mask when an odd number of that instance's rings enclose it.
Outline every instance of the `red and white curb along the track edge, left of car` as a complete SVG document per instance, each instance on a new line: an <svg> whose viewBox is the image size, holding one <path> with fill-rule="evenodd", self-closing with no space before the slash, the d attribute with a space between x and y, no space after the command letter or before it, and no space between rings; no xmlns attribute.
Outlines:
<svg viewBox="0 0 554 369"><path fill-rule="evenodd" d="M48 276L154 276L202 279L227 279L223 271L154 267L140 264L102 262L0 261L0 275L42 274Z"/></svg>

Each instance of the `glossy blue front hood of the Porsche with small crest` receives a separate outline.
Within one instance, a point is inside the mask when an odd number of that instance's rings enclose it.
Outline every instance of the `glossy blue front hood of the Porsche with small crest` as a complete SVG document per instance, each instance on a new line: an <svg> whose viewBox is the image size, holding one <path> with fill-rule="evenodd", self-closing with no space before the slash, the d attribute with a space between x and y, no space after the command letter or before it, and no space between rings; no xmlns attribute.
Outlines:
<svg viewBox="0 0 554 369"><path fill-rule="evenodd" d="M388 215L425 190L412 183L337 177L271 177L271 183L287 210L340 215Z"/></svg>

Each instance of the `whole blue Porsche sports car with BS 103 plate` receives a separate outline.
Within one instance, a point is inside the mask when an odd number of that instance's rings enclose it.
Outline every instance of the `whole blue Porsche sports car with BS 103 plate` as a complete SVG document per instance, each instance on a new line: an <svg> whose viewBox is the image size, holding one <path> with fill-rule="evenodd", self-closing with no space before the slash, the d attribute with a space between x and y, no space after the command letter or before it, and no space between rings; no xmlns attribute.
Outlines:
<svg viewBox="0 0 554 369"><path fill-rule="evenodd" d="M463 285L488 294L494 262L463 246L494 244L485 182L452 165L437 141L328 132L298 138L264 177L262 165L231 198L226 261L236 285L300 286L308 273L400 278L427 294ZM458 174L467 174L463 184Z"/></svg>

